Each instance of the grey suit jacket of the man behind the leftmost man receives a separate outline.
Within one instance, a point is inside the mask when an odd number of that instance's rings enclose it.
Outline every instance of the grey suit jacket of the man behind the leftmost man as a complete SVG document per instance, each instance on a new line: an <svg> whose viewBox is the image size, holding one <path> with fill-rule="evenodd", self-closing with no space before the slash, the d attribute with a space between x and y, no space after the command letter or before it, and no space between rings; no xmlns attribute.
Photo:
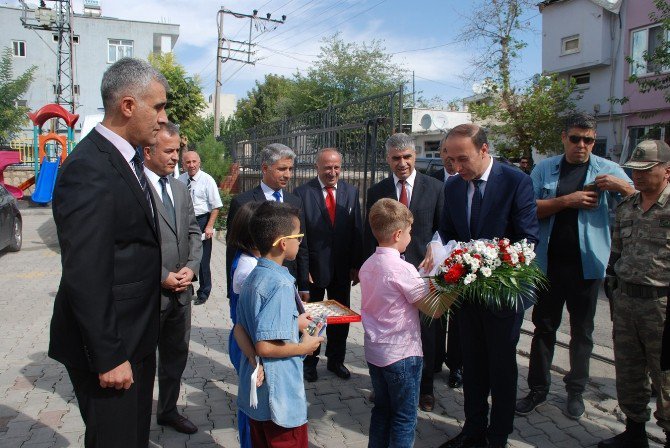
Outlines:
<svg viewBox="0 0 670 448"><path fill-rule="evenodd" d="M165 280L170 272L178 272L184 266L197 274L200 270L200 259L202 258L200 226L195 219L191 195L188 194L183 182L173 176L167 178L174 198L173 205L177 215L176 229L163 205L162 192L156 191L153 184L149 183L158 211L158 223L161 231L161 264L163 265L161 281ZM191 300L192 295L193 285L180 293L161 288L161 310L167 309L172 297L176 298L180 304L186 305Z"/></svg>

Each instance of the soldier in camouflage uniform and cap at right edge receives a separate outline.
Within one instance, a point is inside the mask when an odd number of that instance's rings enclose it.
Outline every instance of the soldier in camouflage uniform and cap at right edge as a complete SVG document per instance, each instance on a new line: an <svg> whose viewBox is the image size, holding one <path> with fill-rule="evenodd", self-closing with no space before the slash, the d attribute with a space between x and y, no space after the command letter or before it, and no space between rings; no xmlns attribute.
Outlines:
<svg viewBox="0 0 670 448"><path fill-rule="evenodd" d="M670 431L670 371L661 372L661 341L670 281L670 146L642 141L624 167L638 190L616 211L608 273L612 297L614 364L619 407L626 430L598 448L648 447L649 376L658 391L654 417ZM608 279L609 281L609 279ZM670 447L670 441L666 441Z"/></svg>

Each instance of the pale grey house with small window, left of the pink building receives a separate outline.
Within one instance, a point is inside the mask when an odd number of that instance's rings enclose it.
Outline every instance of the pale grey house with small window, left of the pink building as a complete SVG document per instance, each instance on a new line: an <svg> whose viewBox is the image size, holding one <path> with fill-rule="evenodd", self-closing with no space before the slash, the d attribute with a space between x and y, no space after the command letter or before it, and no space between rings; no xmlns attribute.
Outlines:
<svg viewBox="0 0 670 448"><path fill-rule="evenodd" d="M628 3L634 3L629 1ZM623 98L626 14L621 0L548 0L542 13L542 71L572 78L581 99L577 108L595 115L597 140L593 152L617 158L626 140ZM641 6L638 4L638 6ZM623 8L622 8L623 9ZM648 11L647 11L648 12Z"/></svg>

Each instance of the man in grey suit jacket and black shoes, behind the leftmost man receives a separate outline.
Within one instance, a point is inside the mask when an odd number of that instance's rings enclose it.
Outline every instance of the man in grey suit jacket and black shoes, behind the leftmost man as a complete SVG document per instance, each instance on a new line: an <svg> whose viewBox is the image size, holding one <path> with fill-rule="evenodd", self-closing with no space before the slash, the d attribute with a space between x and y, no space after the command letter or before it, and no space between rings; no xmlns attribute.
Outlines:
<svg viewBox="0 0 670 448"><path fill-rule="evenodd" d="M200 226L186 185L175 179L179 128L166 123L156 144L144 148L144 172L151 185L161 232L161 325L158 338L156 420L184 434L198 428L177 412L181 375L191 338L191 281L202 257Z"/></svg>

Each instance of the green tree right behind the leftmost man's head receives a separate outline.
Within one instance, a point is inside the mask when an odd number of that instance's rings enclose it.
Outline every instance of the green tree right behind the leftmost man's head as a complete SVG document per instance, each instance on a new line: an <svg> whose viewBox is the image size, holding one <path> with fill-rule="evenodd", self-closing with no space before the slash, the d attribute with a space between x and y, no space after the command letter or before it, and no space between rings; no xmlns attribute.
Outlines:
<svg viewBox="0 0 670 448"><path fill-rule="evenodd" d="M152 53L148 60L170 85L167 93L168 119L179 125L182 135L190 141L196 141L198 129L202 125L198 113L206 106L198 77L187 76L186 69L177 62L173 53Z"/></svg>

